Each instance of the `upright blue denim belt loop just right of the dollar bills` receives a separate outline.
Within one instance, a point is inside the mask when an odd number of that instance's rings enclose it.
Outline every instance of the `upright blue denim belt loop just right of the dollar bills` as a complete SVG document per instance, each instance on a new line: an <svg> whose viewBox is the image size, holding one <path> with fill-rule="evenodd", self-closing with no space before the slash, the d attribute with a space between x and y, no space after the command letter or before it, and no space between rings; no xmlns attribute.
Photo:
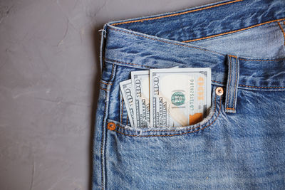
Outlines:
<svg viewBox="0 0 285 190"><path fill-rule="evenodd" d="M228 76L225 112L235 113L237 108L237 86L239 85L239 59L237 56L227 56Z"/></svg>

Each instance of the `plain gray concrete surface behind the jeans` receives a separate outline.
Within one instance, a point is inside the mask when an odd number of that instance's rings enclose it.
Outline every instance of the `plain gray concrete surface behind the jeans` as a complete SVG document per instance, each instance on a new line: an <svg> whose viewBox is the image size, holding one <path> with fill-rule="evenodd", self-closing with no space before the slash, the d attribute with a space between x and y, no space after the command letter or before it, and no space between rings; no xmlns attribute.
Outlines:
<svg viewBox="0 0 285 190"><path fill-rule="evenodd" d="M0 0L0 189L90 189L103 23L218 0Z"/></svg>

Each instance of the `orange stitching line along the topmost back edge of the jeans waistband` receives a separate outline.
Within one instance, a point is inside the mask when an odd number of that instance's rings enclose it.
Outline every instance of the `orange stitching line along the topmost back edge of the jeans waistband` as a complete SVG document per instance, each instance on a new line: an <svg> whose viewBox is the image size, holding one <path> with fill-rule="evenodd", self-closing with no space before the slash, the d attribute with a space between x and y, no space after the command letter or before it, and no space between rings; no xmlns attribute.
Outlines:
<svg viewBox="0 0 285 190"><path fill-rule="evenodd" d="M200 8L200 9L194 9L194 10L190 10L190 11L185 11L185 12L177 13L177 14L170 14L170 15L165 15L165 16L157 16L157 17L152 17L152 18L147 18L147 19L140 19L140 20L135 20L135 21L124 21L124 22L120 22L120 23L113 23L111 25L115 26L115 25L119 25L119 24L123 24L123 23L136 23L136 22L150 21L150 20L155 20L155 19L163 19L163 18L167 18L167 17L170 17L170 16L179 16L179 15L182 15L182 14L189 14L189 13L192 13L192 12L195 12L195 11L202 11L204 9L210 9L210 8L217 7L217 6L222 6L222 5L226 5L226 4L232 4L232 3L235 3L235 2L238 2L238 1L243 1L243 0L235 0L235 1L230 1L230 2L226 2L226 3L222 3L222 4L215 4L215 5L212 5L212 6L207 6L207 7L203 7L203 8Z"/></svg>

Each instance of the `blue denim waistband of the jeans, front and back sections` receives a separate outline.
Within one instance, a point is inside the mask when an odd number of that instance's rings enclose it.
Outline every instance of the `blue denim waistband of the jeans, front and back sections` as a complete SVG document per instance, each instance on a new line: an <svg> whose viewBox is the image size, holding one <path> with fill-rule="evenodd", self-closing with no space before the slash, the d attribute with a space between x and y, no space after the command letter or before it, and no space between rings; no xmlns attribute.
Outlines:
<svg viewBox="0 0 285 190"><path fill-rule="evenodd" d="M106 23L102 59L141 69L209 67L212 83L226 86L228 60L236 58L238 88L285 90L285 58L245 58L189 44L285 21L284 7L285 1L222 1L174 13Z"/></svg>

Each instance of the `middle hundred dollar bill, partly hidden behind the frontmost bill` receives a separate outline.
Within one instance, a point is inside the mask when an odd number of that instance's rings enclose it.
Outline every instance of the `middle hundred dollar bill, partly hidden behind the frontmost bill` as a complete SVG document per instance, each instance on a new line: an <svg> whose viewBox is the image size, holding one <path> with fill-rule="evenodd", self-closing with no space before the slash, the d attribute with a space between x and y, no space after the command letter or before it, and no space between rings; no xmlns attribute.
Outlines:
<svg viewBox="0 0 285 190"><path fill-rule="evenodd" d="M135 127L150 127L149 70L131 72L135 99Z"/></svg>

